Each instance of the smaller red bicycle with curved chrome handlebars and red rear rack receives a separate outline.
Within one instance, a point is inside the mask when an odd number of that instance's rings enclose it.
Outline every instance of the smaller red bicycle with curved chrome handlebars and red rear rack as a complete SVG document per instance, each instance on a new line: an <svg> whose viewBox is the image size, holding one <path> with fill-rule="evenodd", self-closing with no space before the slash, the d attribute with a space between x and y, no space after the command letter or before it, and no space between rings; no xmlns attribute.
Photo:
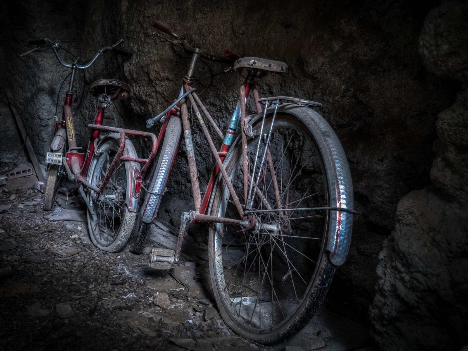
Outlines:
<svg viewBox="0 0 468 351"><path fill-rule="evenodd" d="M71 70L69 88L66 91L61 119L56 117L51 152L47 153L46 162L49 176L45 187L44 210L54 208L55 199L63 176L70 181L80 183L80 194L88 207L88 229L91 240L99 249L117 252L127 242L138 211L141 179L156 155L157 139L153 133L139 132L102 125L104 112L115 100L126 99L130 88L117 79L101 79L91 84L91 93L97 98L99 107L94 124L88 124L91 135L86 153L76 145L73 126L72 99L73 83L77 70L92 66L96 59L106 51L130 57L130 52L119 50L115 46L106 46L86 63L66 63L59 54L59 41L47 38L29 40L28 44L51 47L59 63ZM147 159L140 159L128 139L128 135L151 138L153 147ZM139 163L143 163L140 169ZM87 188L87 194L83 189Z"/></svg>

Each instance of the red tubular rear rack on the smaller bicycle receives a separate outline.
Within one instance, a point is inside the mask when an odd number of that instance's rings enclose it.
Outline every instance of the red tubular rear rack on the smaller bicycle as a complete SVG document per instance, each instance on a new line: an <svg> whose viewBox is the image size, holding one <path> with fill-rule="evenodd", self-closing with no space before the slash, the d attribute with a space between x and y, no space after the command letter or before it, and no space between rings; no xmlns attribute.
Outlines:
<svg viewBox="0 0 468 351"><path fill-rule="evenodd" d="M102 194L102 191L106 187L107 183L109 182L110 176L112 176L112 173L114 172L115 168L117 167L117 163L119 161L133 161L133 162L140 162L140 163L145 163L143 168L141 169L141 177L144 178L146 171L150 167L151 163L154 160L154 157L156 156L157 152L157 146L158 146L158 139L156 138L156 135L150 132L141 132L141 131L134 131L132 129L124 129L124 128L114 128L114 127L108 127L105 125L97 125L97 124L88 124L88 128L95 129L98 131L105 131L105 132L115 132L120 134L120 147L117 151L117 154L112 161L109 171L106 174L106 177L104 178L104 181L102 182L101 188L99 189L98 193ZM139 159L135 157L126 157L122 156L124 154L124 149L125 149L125 136L129 135L139 135L141 137L150 137L153 141L153 146L150 155L148 156L147 159ZM79 179L81 183L84 183L81 178ZM83 179L84 180L84 179ZM85 183L85 185L88 186L88 182ZM89 184L91 185L91 184ZM94 189L93 189L94 190Z"/></svg>

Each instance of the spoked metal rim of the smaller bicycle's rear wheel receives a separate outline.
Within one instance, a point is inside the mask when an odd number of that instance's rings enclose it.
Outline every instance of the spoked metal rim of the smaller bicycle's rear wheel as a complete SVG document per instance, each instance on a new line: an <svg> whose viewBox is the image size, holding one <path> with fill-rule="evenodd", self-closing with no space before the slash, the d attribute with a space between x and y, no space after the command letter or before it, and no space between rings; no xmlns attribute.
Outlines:
<svg viewBox="0 0 468 351"><path fill-rule="evenodd" d="M102 182L117 154L117 146L103 150L96 161L91 183L101 188ZM107 247L112 244L124 222L126 173L124 162L120 162L110 176L104 191L97 200L94 191L90 190L90 204L96 213L96 220L91 225L97 244Z"/></svg>

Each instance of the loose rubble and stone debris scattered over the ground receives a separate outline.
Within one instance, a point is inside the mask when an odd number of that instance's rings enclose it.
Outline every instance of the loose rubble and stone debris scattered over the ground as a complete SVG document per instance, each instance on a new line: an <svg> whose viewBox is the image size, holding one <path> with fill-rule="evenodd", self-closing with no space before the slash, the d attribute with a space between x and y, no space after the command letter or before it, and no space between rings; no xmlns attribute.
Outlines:
<svg viewBox="0 0 468 351"><path fill-rule="evenodd" d="M0 215L0 243L18 246L11 251L0 252L0 264L9 267L10 275L10 278L0 281L0 297L8 299L0 306L0 329L3 331L5 325L15 325L15 329L1 335L2 343L21 349L24 348L22 336L28 335L38 349L50 349L51 340L58 343L54 349L66 349L74 348L74 342L81 343L84 336L98 335L98 338L90 340L95 342L96 349L106 350L120 350L124 345L130 345L131 349L179 349L181 346L170 341L171 337L193 340L194 351L284 350L284 345L271 349L270 346L245 341L224 324L214 302L206 298L212 295L208 291L206 296L203 295L205 282L201 281L209 279L207 263L188 260L197 263L194 269L193 263L185 263L185 258L181 260L181 268L176 271L190 270L190 282L200 286L200 294L190 292L169 271L148 268L148 256L133 255L128 248L118 253L103 252L87 240L87 228L81 223L45 219L44 215L51 213L44 212L40 203L26 205L28 201L35 202L37 198L44 197L39 191L18 190L15 197L8 200L10 195L12 192L0 192L1 205L15 204L13 210ZM69 201L74 201L74 197L69 197ZM18 204L24 204L24 207L18 208ZM29 207L36 208L37 212L29 213ZM24 220L15 221L18 216ZM57 245L55 248L54 244ZM189 242L184 245L192 250ZM79 252L69 257L52 256L51 250L64 246L76 248ZM238 254L236 250L227 251L227 256L232 255L234 260ZM45 262L31 266L23 260L23 257L33 255ZM194 278L195 270L197 276ZM210 283L207 284L209 288ZM165 306L168 308L154 303L154 298L158 302L157 296L162 297L163 294L167 295L166 303L169 305ZM72 317L61 318L58 315L56 305L64 301L69 301L67 307L73 312ZM37 310L50 312L44 318L40 312L33 313ZM45 311L41 312L45 314ZM32 321L34 315L37 319ZM315 336L320 330L324 333L323 324L315 327ZM31 325L34 328L25 329ZM336 330L332 329L332 332L335 337ZM319 336L323 339L323 335ZM60 339L62 336L64 338ZM308 339L309 334L304 338ZM336 345L337 341L327 341L327 347L322 349L328 350L330 343ZM294 341L289 345L302 344Z"/></svg>

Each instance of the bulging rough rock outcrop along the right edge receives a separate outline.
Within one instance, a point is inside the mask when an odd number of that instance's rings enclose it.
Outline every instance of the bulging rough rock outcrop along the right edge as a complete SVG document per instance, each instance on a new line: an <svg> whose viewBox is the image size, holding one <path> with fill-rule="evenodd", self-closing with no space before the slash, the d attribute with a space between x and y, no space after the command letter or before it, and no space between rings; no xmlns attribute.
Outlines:
<svg viewBox="0 0 468 351"><path fill-rule="evenodd" d="M398 203L379 255L370 308L382 350L460 350L468 344L468 4L431 10L419 37L424 65L462 83L437 119L432 184Z"/></svg>

